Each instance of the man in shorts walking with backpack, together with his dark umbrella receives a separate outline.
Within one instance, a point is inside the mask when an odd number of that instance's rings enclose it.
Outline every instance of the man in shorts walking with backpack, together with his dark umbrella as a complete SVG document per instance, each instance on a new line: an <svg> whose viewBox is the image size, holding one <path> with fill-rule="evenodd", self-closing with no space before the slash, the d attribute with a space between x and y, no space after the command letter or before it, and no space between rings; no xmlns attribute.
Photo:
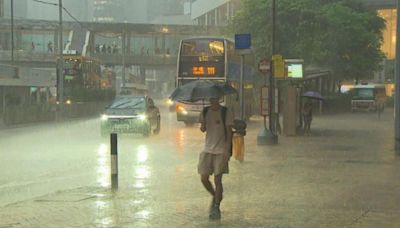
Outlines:
<svg viewBox="0 0 400 228"><path fill-rule="evenodd" d="M212 196L209 209L209 218L212 220L221 219L222 176L229 173L232 149L233 112L220 104L220 98L235 92L236 90L226 83L196 80L178 87L170 97L177 101L193 102L207 99L210 102L210 106L204 107L199 116L200 130L205 132L206 136L197 171L204 188ZM215 187L210 182L211 175L214 175Z"/></svg>

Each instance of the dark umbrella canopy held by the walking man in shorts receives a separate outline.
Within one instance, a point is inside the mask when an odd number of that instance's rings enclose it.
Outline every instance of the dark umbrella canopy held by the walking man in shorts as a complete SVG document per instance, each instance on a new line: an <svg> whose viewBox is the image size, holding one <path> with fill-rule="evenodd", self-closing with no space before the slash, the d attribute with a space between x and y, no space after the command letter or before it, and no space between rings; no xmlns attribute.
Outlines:
<svg viewBox="0 0 400 228"><path fill-rule="evenodd" d="M199 101L209 98L223 97L237 93L236 89L227 83L211 80L195 80L176 88L170 99L174 101Z"/></svg>

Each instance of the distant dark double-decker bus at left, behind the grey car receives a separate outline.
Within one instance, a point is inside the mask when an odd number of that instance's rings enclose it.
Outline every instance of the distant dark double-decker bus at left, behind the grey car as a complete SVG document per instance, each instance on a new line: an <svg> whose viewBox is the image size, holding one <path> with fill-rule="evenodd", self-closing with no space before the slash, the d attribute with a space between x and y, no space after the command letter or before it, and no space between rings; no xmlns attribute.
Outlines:
<svg viewBox="0 0 400 228"><path fill-rule="evenodd" d="M79 54L64 54L63 57L64 100L67 103L102 100L101 97L97 99L96 96L110 90L112 83L110 78L102 77L100 61Z"/></svg>

